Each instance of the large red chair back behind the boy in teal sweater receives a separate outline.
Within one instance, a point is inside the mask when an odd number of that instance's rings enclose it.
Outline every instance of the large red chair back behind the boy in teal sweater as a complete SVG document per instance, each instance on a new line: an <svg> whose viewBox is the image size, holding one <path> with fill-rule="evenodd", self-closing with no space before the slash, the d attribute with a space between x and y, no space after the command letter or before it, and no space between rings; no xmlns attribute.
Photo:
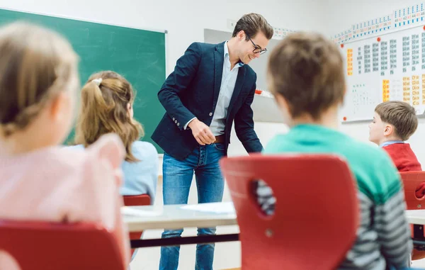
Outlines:
<svg viewBox="0 0 425 270"><path fill-rule="evenodd" d="M358 199L346 162L329 155L231 157L220 161L234 202L242 270L335 269L356 240ZM256 180L276 197L274 215L256 201Z"/></svg>

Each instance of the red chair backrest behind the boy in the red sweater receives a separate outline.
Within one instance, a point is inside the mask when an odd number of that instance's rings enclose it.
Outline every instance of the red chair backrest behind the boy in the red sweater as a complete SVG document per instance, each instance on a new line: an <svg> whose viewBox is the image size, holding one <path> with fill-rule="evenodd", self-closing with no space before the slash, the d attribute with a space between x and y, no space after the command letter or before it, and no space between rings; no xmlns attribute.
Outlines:
<svg viewBox="0 0 425 270"><path fill-rule="evenodd" d="M425 183L425 171L404 171L400 172L404 186L404 200L407 204L407 209L425 209L425 197L416 198L416 188Z"/></svg>

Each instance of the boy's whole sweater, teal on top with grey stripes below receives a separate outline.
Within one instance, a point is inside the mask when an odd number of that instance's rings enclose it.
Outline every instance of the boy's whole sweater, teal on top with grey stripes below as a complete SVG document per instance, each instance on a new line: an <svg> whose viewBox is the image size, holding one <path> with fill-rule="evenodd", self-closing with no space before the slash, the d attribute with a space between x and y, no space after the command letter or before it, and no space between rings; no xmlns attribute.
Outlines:
<svg viewBox="0 0 425 270"><path fill-rule="evenodd" d="M412 240L404 216L404 193L397 169L385 152L319 125L297 125L273 138L264 152L329 153L347 160L358 184L361 224L339 269L409 266ZM263 181L258 183L257 195L264 212L272 214L276 198Z"/></svg>

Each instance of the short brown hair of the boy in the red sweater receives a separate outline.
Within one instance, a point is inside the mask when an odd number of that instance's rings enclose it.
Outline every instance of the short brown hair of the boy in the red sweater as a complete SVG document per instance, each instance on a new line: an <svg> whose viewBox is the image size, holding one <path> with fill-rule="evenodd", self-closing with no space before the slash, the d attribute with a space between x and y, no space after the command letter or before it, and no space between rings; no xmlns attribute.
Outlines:
<svg viewBox="0 0 425 270"><path fill-rule="evenodd" d="M382 122L394 126L395 135L401 140L409 140L418 128L416 111L404 101L386 101L375 108Z"/></svg>

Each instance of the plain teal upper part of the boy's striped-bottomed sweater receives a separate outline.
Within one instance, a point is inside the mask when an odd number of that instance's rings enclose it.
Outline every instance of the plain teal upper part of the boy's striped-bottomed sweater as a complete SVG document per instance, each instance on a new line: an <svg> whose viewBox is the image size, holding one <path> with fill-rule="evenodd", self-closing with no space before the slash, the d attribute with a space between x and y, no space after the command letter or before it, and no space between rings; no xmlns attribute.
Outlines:
<svg viewBox="0 0 425 270"><path fill-rule="evenodd" d="M274 137L264 150L265 154L284 152L340 155L356 176L358 189L378 204L402 189L397 168L385 151L337 130L321 125L297 125L287 134Z"/></svg>

